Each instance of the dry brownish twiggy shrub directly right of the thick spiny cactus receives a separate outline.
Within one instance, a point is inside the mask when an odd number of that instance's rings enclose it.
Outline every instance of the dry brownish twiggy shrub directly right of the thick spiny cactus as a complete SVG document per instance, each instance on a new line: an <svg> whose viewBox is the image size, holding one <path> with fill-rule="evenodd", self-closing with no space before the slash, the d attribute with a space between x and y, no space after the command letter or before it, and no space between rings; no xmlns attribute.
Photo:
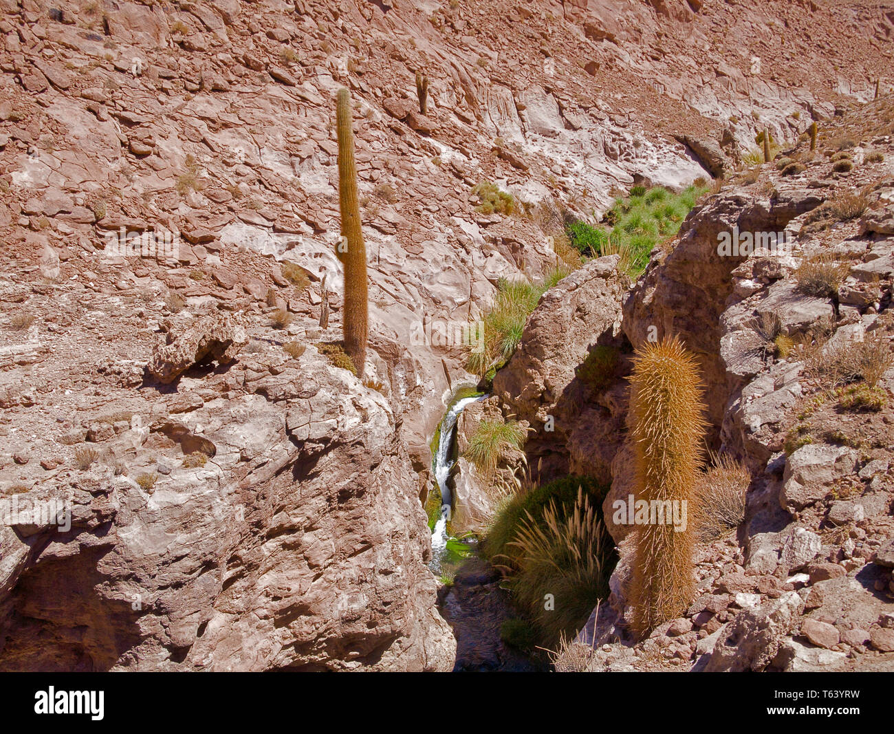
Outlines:
<svg viewBox="0 0 894 734"><path fill-rule="evenodd" d="M745 519L745 494L751 472L741 461L726 454L713 455L713 467L696 483L696 524L705 543L721 536Z"/></svg>

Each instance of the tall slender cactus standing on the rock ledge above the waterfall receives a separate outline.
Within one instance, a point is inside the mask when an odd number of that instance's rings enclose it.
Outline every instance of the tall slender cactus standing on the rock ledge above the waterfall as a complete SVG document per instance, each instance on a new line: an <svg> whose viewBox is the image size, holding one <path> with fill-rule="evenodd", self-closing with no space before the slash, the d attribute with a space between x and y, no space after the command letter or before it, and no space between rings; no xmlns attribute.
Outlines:
<svg viewBox="0 0 894 734"><path fill-rule="evenodd" d="M342 211L342 241L338 256L344 266L342 333L344 350L363 376L367 359L367 248L360 228L357 201L357 164L354 162L354 132L351 129L350 93L339 89L336 108L338 125L338 192Z"/></svg>

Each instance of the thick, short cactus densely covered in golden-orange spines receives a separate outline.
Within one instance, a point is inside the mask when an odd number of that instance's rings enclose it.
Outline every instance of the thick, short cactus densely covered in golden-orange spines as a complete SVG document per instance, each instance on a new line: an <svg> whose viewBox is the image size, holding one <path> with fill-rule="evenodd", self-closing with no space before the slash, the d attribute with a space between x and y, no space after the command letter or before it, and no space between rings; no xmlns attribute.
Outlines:
<svg viewBox="0 0 894 734"><path fill-rule="evenodd" d="M632 627L645 637L679 617L695 594L696 477L702 458L702 384L693 355L674 337L637 351L630 377L631 438L634 441L637 502L677 502L685 508L684 530L670 520L637 520L630 586ZM683 502L686 502L684 505ZM663 505L665 509L673 505Z"/></svg>

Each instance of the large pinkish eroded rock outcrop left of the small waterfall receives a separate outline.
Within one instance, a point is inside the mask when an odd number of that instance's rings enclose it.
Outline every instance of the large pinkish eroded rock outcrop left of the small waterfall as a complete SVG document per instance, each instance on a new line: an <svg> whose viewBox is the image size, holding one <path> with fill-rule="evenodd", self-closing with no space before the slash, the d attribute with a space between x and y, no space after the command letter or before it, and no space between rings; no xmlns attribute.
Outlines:
<svg viewBox="0 0 894 734"><path fill-rule="evenodd" d="M174 395L169 417L102 442L145 471L94 466L16 495L70 500L72 519L0 531L0 668L452 668L395 416L316 350L301 359L237 363L245 389L226 397L223 375L181 378L204 398ZM213 459L190 468L184 436Z"/></svg>

